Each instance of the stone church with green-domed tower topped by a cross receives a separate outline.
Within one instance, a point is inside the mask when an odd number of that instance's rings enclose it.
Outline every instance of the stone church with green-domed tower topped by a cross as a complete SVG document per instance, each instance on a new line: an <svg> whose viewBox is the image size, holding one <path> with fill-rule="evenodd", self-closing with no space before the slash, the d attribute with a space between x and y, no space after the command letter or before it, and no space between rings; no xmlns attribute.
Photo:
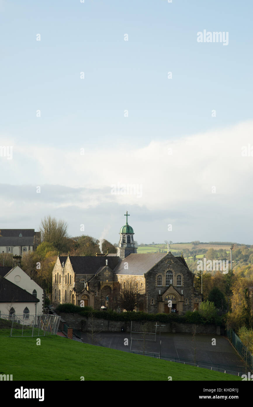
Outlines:
<svg viewBox="0 0 253 407"><path fill-rule="evenodd" d="M96 256L58 256L52 271L52 302L72 303L119 310L119 291L126 281L142 293L142 303L137 309L146 313L179 315L198 309L202 301L193 284L194 274L182 256L168 253L137 253L134 230L126 223L120 229L119 245L115 254ZM172 306L168 306L171 300ZM121 309L121 311L123 311Z"/></svg>

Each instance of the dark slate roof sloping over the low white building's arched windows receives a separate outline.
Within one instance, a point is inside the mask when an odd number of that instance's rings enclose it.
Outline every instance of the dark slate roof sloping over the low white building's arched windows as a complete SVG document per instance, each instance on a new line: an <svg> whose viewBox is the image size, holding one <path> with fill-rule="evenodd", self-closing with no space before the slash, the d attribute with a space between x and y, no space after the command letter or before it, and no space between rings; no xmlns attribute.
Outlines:
<svg viewBox="0 0 253 407"><path fill-rule="evenodd" d="M39 298L0 276L0 302L39 302Z"/></svg>

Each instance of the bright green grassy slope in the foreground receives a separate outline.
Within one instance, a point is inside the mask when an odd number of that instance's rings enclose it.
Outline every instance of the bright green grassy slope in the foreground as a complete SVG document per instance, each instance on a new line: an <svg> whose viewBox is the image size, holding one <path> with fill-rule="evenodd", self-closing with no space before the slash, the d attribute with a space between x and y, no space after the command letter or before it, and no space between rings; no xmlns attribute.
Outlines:
<svg viewBox="0 0 253 407"><path fill-rule="evenodd" d="M0 374L13 374L13 380L112 381L221 381L241 380L238 376L151 357L82 344L59 336L10 338L0 330Z"/></svg>

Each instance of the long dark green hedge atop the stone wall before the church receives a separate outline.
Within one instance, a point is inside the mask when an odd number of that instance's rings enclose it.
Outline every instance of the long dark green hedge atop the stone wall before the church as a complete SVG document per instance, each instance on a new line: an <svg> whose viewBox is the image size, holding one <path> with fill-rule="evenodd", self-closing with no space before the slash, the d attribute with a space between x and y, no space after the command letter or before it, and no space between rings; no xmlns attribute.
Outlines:
<svg viewBox="0 0 253 407"><path fill-rule="evenodd" d="M144 312L120 312L115 311L96 311L91 307L80 307L73 304L59 304L56 311L66 313L78 313L83 317L89 318L91 312L93 316L98 319L107 319L110 321L157 321L163 323L169 322L181 322L190 324L216 324L221 325L221 317L215 317L213 319L205 319L198 311L187 311L184 315L171 314L146 314Z"/></svg>

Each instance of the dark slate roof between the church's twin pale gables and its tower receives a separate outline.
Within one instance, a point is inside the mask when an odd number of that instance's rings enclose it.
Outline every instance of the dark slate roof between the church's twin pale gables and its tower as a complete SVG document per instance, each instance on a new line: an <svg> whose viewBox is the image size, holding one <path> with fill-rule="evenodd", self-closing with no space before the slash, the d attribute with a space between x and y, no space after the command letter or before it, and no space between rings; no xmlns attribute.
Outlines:
<svg viewBox="0 0 253 407"><path fill-rule="evenodd" d="M59 256L61 264L67 261L67 256ZM108 266L114 270L119 263L118 256L69 256L69 260L76 274L96 274L99 267L106 265L106 259L108 260Z"/></svg>

